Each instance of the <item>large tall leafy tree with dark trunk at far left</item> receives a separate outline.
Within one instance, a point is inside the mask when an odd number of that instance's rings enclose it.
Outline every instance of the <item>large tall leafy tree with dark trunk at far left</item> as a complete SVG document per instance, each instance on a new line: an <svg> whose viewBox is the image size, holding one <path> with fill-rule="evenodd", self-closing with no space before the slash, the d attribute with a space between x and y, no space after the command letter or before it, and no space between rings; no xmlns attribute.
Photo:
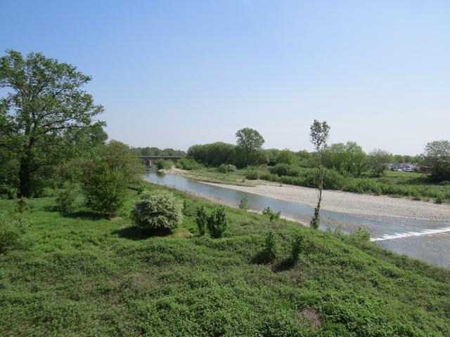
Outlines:
<svg viewBox="0 0 450 337"><path fill-rule="evenodd" d="M0 87L9 89L0 99L0 146L17 156L20 196L30 196L32 176L69 155L84 131L103 126L94 121L103 107L82 90L90 80L41 53L9 50L0 58Z"/></svg>

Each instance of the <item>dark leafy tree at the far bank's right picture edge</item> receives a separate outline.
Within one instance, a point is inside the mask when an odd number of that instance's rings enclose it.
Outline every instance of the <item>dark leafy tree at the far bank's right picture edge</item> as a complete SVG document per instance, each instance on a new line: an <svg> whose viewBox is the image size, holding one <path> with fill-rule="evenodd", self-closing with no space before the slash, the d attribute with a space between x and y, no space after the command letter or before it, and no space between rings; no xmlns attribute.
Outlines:
<svg viewBox="0 0 450 337"><path fill-rule="evenodd" d="M450 141L435 140L428 143L423 154L425 164L432 168L432 178L450 180Z"/></svg>

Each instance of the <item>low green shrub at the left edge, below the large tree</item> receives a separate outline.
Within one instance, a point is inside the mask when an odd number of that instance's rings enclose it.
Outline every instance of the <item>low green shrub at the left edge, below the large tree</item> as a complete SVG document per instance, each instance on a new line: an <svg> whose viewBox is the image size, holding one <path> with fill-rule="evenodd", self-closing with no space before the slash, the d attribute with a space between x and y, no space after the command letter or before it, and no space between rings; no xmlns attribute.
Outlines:
<svg viewBox="0 0 450 337"><path fill-rule="evenodd" d="M0 214L0 254L24 248L23 234L30 227L30 219L23 213Z"/></svg>

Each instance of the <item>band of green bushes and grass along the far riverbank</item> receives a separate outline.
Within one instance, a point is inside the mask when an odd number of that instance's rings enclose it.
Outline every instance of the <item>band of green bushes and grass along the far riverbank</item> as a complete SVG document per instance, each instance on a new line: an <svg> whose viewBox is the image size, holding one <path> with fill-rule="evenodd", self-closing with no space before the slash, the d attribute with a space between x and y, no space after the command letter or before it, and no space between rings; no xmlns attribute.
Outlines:
<svg viewBox="0 0 450 337"><path fill-rule="evenodd" d="M202 165L189 176L216 183L252 185L245 180L269 180L275 183L318 187L320 170L314 152L290 150L253 150L250 165L239 159L239 145L211 143L193 145L187 152ZM389 171L388 163L412 161L430 173ZM450 145L446 141L432 142L425 152L416 157L392 156L385 150L375 149L366 154L355 142L331 144L322 151L324 167L323 188L347 192L385 194L392 197L450 202ZM224 171L224 166L236 165L235 171Z"/></svg>

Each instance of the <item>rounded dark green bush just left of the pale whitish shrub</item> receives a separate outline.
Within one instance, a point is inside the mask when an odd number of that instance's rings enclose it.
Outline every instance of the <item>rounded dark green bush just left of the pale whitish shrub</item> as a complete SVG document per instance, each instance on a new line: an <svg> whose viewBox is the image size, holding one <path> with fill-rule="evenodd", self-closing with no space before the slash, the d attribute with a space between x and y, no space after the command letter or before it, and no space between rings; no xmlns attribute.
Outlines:
<svg viewBox="0 0 450 337"><path fill-rule="evenodd" d="M86 205L105 216L112 216L124 204L126 190L123 174L102 164L89 174L84 185Z"/></svg>

